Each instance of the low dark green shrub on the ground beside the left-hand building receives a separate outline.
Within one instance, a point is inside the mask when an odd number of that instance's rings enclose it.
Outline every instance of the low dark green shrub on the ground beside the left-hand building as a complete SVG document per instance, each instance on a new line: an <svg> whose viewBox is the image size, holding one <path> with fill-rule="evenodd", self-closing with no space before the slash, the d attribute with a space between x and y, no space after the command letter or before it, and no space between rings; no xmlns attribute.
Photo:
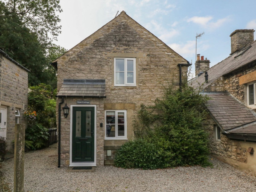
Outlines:
<svg viewBox="0 0 256 192"><path fill-rule="evenodd" d="M29 124L26 128L27 147L39 149L45 146L49 137L48 129L40 123ZM31 141L32 143L29 143ZM31 145L32 144L32 145Z"/></svg>

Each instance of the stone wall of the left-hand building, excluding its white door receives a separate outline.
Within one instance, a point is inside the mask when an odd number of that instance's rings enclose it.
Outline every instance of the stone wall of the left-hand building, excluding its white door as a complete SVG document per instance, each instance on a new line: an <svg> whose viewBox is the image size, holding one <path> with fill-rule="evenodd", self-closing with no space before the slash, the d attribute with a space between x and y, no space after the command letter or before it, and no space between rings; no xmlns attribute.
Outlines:
<svg viewBox="0 0 256 192"><path fill-rule="evenodd" d="M3 57L1 65L1 105L7 106L7 149L13 151L15 109L19 109L19 123L25 123L23 105L28 104L28 72Z"/></svg>

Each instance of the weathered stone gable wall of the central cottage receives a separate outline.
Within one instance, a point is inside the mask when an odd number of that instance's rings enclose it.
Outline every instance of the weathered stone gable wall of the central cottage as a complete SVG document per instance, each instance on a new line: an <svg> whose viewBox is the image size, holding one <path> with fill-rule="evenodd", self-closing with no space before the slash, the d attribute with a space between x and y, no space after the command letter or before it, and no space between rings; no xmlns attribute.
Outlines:
<svg viewBox="0 0 256 192"><path fill-rule="evenodd" d="M136 58L136 86L114 86L114 58L116 57ZM125 12L70 49L57 62L58 90L63 79L105 79L104 103L134 105L134 109L119 108L127 110L127 119L136 115L141 104L153 105L155 99L163 96L164 87L168 84L174 83L178 88L177 64L187 63L184 58L132 20ZM182 67L182 72L184 80L187 67ZM105 109L101 108L101 110L99 114L103 114ZM102 122L105 127L105 121ZM131 123L128 123L127 131L128 138L132 139ZM98 139L104 141L104 132ZM65 140L69 142L69 138ZM126 141L128 140L105 140L105 148L107 150L107 148L120 146ZM103 144L101 147L103 148ZM98 161L102 160L103 158Z"/></svg>

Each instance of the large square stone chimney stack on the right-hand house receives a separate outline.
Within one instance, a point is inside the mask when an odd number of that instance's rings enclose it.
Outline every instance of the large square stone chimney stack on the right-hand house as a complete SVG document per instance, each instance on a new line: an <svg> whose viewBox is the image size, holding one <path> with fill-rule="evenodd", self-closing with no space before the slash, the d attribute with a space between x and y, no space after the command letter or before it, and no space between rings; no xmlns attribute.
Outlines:
<svg viewBox="0 0 256 192"><path fill-rule="evenodd" d="M253 32L255 32L253 29L237 29L231 33L231 54L252 43L254 41Z"/></svg>

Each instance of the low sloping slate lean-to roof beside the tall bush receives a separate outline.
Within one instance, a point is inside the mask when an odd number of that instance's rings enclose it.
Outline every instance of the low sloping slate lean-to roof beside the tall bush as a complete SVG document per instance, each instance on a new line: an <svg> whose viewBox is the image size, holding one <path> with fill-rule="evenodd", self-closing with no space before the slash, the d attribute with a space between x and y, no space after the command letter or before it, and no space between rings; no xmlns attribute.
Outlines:
<svg viewBox="0 0 256 192"><path fill-rule="evenodd" d="M241 128L229 133L254 133L256 134L256 116L253 111L234 99L225 92L205 92L211 99L207 102L207 108L224 131L233 128ZM246 124L250 123L246 126ZM243 126L242 126L243 125ZM246 127L245 127L246 126Z"/></svg>

